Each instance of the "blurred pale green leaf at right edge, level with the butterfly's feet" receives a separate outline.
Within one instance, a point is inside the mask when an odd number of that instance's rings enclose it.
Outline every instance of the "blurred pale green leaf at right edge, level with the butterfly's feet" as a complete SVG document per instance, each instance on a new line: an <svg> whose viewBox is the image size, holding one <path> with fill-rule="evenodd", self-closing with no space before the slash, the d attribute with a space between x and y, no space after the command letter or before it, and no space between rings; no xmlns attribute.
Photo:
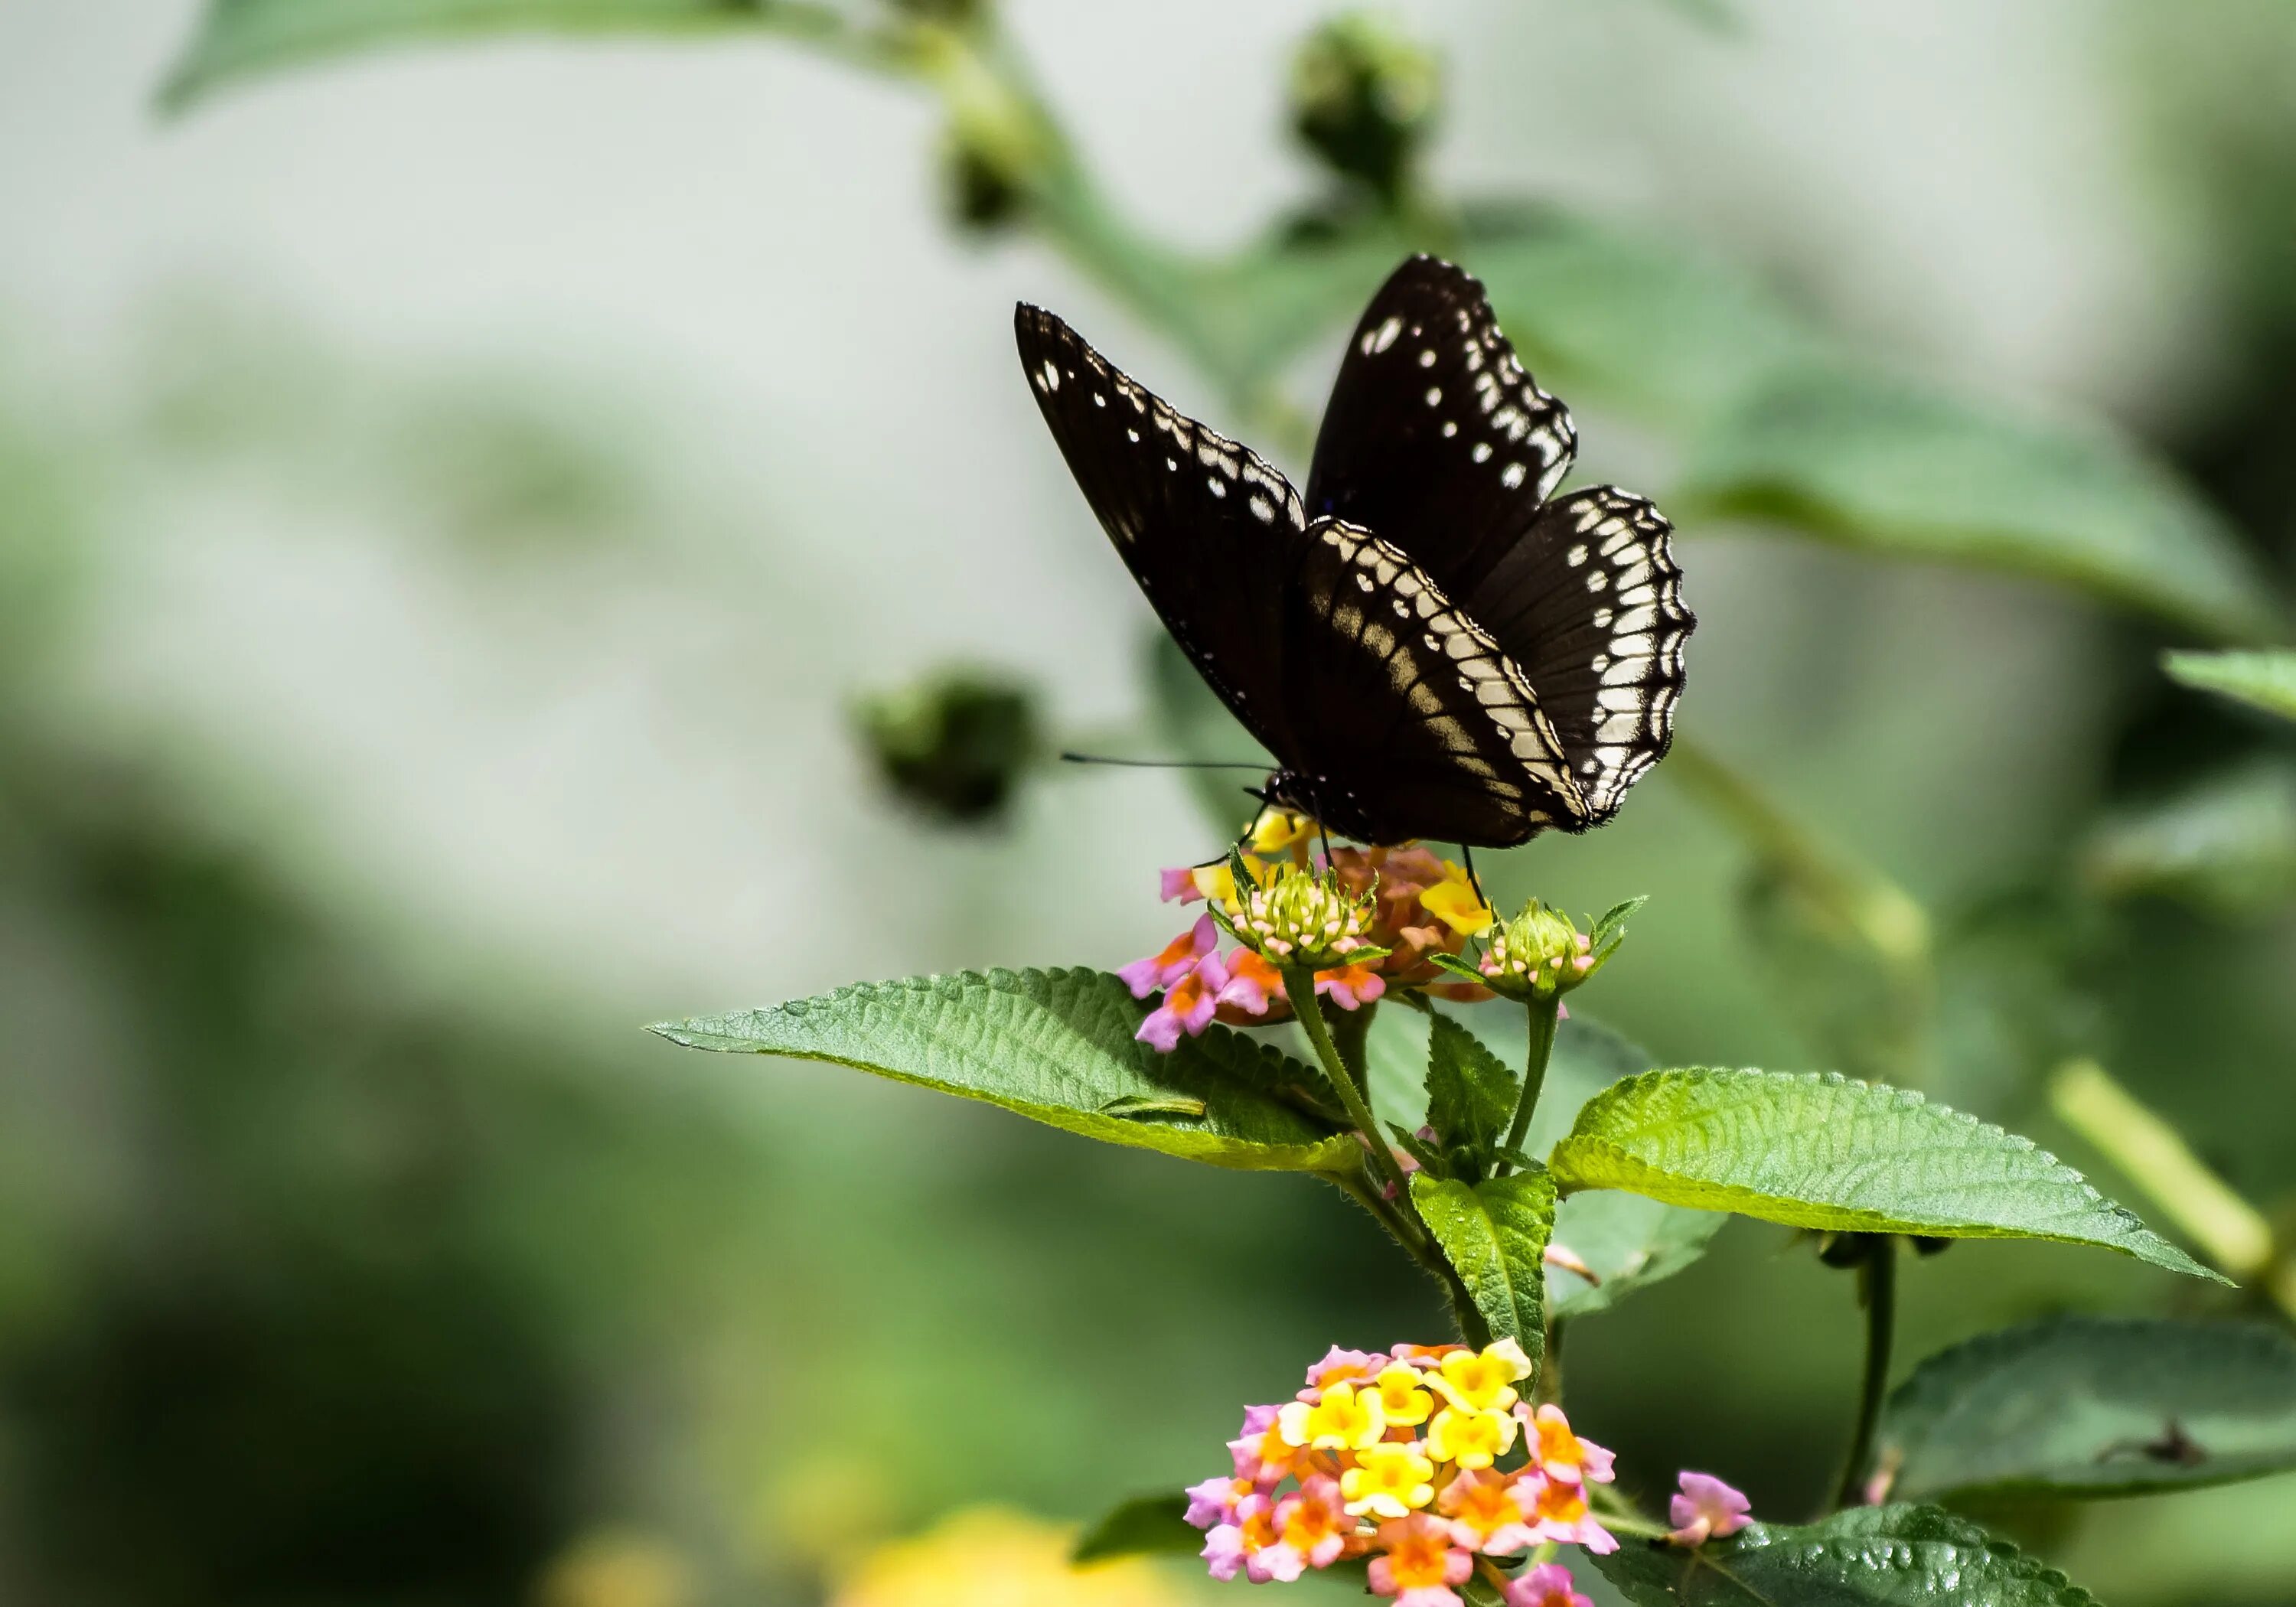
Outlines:
<svg viewBox="0 0 2296 1607"><path fill-rule="evenodd" d="M2218 916L2296 898L2296 764L2255 760L2119 810L2096 826L2082 875L2105 898L2174 898Z"/></svg>

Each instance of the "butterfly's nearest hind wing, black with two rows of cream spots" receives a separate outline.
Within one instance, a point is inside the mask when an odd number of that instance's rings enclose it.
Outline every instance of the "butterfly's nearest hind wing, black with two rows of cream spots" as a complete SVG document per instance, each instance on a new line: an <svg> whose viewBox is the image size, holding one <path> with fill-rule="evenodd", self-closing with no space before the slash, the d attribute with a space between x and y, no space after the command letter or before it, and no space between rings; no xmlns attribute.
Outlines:
<svg viewBox="0 0 2296 1607"><path fill-rule="evenodd" d="M1283 601L1295 764L1334 831L1508 847L1587 813L1520 666L1391 542L1318 519Z"/></svg>

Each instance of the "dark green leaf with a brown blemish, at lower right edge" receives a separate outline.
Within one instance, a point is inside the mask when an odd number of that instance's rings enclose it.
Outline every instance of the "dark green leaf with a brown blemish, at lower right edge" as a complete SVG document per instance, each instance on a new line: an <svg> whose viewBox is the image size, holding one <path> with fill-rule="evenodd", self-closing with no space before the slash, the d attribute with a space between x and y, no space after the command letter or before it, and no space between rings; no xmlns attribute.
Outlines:
<svg viewBox="0 0 2296 1607"><path fill-rule="evenodd" d="M2264 1322L2048 1318L1940 1350L1883 1414L1913 1499L2138 1495L2296 1469L2296 1338Z"/></svg>

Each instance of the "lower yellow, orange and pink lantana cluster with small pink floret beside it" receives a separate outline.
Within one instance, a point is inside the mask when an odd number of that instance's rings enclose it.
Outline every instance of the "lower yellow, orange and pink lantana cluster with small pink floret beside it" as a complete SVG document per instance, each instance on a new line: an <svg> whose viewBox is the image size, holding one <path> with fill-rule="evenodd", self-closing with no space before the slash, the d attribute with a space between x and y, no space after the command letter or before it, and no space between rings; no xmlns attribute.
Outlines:
<svg viewBox="0 0 2296 1607"><path fill-rule="evenodd" d="M1396 1607L1465 1607L1476 1573L1506 1607L1591 1607L1564 1545L1619 1550L1593 1515L1612 1453L1582 1439L1559 1405L1534 1405L1513 1338L1472 1345L1334 1345L1297 1396L1244 1410L1233 1472L1187 1492L1215 1579L1293 1582L1366 1559L1371 1591ZM1711 1474L1681 1476L1674 1545L1704 1545L1747 1522L1747 1499Z"/></svg>

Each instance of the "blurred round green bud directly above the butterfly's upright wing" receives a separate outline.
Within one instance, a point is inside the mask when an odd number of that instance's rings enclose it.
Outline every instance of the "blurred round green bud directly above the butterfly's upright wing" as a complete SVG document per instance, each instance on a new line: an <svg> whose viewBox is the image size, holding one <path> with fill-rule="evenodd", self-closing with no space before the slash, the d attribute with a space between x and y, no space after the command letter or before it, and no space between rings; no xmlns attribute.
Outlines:
<svg viewBox="0 0 2296 1607"><path fill-rule="evenodd" d="M1389 207L1403 195L1440 101L1435 55L1375 16L1329 21L1293 57L1293 129Z"/></svg>

